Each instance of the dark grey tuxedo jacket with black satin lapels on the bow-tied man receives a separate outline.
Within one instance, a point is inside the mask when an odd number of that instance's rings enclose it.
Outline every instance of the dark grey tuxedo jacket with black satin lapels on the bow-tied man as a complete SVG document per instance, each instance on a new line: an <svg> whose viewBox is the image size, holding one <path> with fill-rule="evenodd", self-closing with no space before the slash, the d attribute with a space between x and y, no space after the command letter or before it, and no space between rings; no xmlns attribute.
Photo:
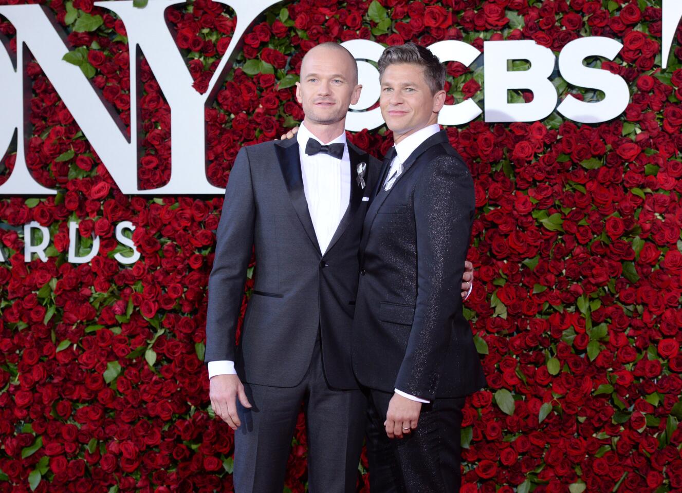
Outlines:
<svg viewBox="0 0 682 493"><path fill-rule="evenodd" d="M357 388L351 366L357 252L381 163L351 143L348 147L350 203L324 255L303 192L297 139L239 150L225 190L209 276L206 363L235 361L243 382L294 387L308 370L320 331L327 382L338 389ZM364 188L357 181L362 162ZM254 289L237 345L252 249Z"/></svg>

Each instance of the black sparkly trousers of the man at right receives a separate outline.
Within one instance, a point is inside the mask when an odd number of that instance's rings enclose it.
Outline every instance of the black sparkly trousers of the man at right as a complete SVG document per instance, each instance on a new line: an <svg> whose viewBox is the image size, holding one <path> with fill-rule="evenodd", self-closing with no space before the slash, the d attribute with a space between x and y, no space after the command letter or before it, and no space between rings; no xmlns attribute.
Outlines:
<svg viewBox="0 0 682 493"><path fill-rule="evenodd" d="M366 389L367 452L372 493L458 493L464 397L421 405L417 428L388 438L384 421L393 393Z"/></svg>

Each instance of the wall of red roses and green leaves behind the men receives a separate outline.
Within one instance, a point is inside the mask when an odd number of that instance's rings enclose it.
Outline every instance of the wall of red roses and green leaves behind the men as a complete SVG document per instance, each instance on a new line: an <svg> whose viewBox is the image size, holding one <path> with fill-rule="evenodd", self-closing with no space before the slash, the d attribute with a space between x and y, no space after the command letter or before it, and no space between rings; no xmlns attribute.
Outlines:
<svg viewBox="0 0 682 493"><path fill-rule="evenodd" d="M91 0L44 5L68 33L68 61L128 125L131 54L121 21ZM207 175L224 187L242 145L303 117L293 84L303 53L319 42L464 40L483 50L484 40L531 39L555 53L586 35L624 44L614 61L587 60L627 80L630 104L617 119L581 125L552 113L502 124L481 116L447 129L475 177L476 282L465 310L490 383L467 399L462 492L682 492L682 28L662 71L661 6L280 3L248 31L206 111ZM195 0L166 16L195 89L206 91L231 42L233 12ZM16 51L4 18L0 31ZM481 104L481 64L447 68L448 102ZM170 108L144 53L140 70L138 178L155 188L170 176ZM232 491L233 432L211 413L202 361L223 198L121 194L40 66L27 72L27 162L59 194L0 198L0 492ZM562 98L602 97L552 80ZM385 128L349 137L379 157L392 145ZM13 164L10 149L0 182ZM24 261L31 220L50 230L46 263ZM91 233L100 236L90 263L66 261L68 220L80 220L82 254ZM114 235L123 220L136 226L142 254L132 267L113 258L130 252ZM362 491L366 466L363 456ZM286 488L306 490L302 416Z"/></svg>

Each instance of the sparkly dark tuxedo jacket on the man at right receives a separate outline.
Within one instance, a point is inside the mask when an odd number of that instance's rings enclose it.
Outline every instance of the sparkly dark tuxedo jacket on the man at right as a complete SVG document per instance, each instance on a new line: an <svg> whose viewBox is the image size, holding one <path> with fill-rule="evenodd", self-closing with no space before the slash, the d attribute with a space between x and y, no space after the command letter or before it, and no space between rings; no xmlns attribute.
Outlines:
<svg viewBox="0 0 682 493"><path fill-rule="evenodd" d="M473 179L444 130L415 149L385 191L387 170L360 243L353 370L372 389L429 400L469 395L486 386L460 295Z"/></svg>

